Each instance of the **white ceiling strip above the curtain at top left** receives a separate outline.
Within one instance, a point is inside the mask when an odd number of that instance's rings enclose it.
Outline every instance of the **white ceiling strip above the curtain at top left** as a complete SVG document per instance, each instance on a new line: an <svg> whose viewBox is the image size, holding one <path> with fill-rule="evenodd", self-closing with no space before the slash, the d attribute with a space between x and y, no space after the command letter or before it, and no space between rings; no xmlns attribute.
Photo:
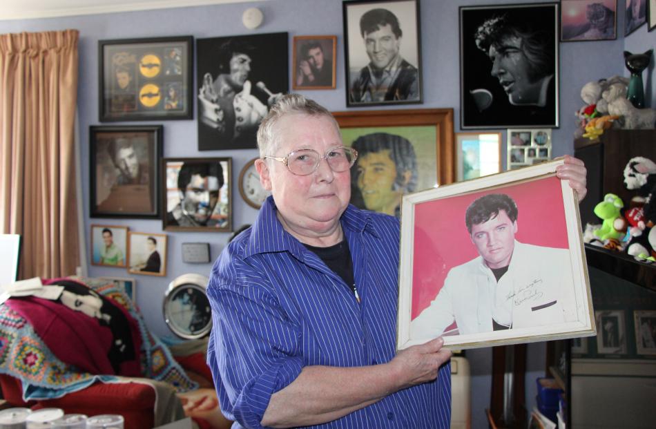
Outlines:
<svg viewBox="0 0 656 429"><path fill-rule="evenodd" d="M69 17L245 1L251 0L2 0L0 20Z"/></svg>

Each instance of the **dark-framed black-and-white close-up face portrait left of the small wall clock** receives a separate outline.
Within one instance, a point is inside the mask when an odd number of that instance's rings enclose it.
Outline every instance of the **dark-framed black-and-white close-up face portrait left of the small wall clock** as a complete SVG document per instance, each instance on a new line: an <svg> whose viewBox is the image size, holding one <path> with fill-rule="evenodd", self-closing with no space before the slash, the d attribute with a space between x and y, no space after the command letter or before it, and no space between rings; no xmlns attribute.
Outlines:
<svg viewBox="0 0 656 429"><path fill-rule="evenodd" d="M232 231L232 158L162 160L166 231Z"/></svg>

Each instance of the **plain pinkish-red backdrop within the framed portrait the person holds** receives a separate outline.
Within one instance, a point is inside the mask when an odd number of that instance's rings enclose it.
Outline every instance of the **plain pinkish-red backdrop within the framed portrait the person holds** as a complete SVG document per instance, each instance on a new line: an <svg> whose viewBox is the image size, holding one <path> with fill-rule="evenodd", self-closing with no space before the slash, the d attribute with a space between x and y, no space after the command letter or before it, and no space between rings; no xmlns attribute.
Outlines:
<svg viewBox="0 0 656 429"><path fill-rule="evenodd" d="M465 211L488 193L508 194L517 203L519 242L568 249L563 193L556 177L416 204L411 318L430 305L452 267L479 256L465 226Z"/></svg>

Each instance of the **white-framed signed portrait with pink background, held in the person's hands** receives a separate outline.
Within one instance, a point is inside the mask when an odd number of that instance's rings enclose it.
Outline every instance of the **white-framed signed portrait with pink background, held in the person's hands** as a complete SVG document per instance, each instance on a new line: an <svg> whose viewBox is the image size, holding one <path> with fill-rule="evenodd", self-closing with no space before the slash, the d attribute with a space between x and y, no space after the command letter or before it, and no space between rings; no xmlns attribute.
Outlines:
<svg viewBox="0 0 656 429"><path fill-rule="evenodd" d="M596 333L578 202L562 160L403 197L398 348Z"/></svg>

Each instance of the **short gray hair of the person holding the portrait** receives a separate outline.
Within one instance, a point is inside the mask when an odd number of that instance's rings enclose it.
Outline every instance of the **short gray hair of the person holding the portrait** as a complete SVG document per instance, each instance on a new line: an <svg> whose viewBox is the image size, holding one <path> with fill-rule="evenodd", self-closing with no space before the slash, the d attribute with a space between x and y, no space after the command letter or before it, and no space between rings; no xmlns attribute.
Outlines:
<svg viewBox="0 0 656 429"><path fill-rule="evenodd" d="M258 128L258 149L260 149L260 158L264 155L274 155L280 144L280 138L276 133L276 124L282 117L287 115L310 115L329 117L337 129L339 125L327 108L321 106L314 100L305 98L300 94L286 94L278 99L278 102L271 107L267 117L264 117Z"/></svg>

